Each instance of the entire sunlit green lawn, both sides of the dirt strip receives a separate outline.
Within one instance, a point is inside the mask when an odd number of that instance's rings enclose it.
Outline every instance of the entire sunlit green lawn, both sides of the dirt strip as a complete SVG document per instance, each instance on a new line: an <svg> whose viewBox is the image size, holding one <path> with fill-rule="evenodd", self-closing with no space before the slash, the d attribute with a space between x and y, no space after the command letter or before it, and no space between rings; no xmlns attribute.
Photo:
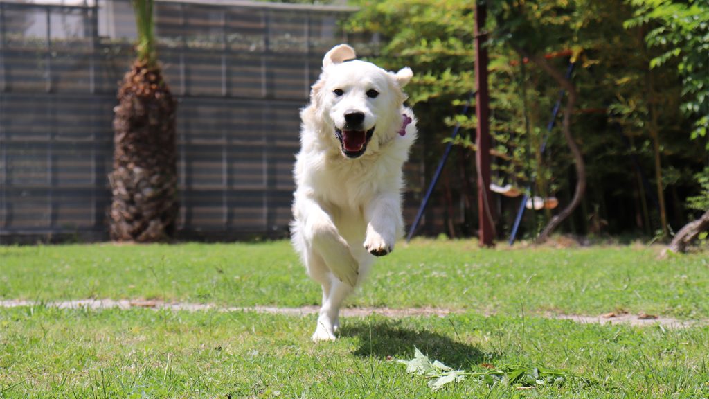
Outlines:
<svg viewBox="0 0 709 399"><path fill-rule="evenodd" d="M640 246L415 241L381 258L350 305L462 313L350 317L334 343L309 341L314 315L0 309L0 398L709 398L707 324L539 317L625 310L705 320L708 258L659 261ZM0 247L2 300L299 306L319 296L287 242ZM432 392L395 361L411 359L414 347L465 371L518 364L584 379L520 389L468 378Z"/></svg>

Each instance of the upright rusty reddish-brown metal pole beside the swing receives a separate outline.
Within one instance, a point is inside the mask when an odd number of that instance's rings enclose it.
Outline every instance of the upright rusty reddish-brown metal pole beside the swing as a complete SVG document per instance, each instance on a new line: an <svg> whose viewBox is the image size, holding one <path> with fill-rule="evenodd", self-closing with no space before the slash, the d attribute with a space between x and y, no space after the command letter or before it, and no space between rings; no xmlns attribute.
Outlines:
<svg viewBox="0 0 709 399"><path fill-rule="evenodd" d="M476 137L476 161L478 170L478 217L480 246L494 246L494 210L490 195L490 121L488 91L488 54L484 43L486 6L484 1L475 3L475 82L478 88L475 96L475 115L478 119Z"/></svg>

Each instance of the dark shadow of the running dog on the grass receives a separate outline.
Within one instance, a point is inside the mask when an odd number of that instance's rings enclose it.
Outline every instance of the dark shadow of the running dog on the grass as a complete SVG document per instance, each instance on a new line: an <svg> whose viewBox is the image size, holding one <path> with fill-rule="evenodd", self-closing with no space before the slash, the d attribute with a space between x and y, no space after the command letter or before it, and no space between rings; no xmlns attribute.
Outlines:
<svg viewBox="0 0 709 399"><path fill-rule="evenodd" d="M340 330L342 337L359 338L353 354L381 359L411 359L414 346L431 361L441 361L452 367L491 362L495 354L485 353L473 345L460 342L455 335L447 337L427 329L413 329L401 320L350 320Z"/></svg>

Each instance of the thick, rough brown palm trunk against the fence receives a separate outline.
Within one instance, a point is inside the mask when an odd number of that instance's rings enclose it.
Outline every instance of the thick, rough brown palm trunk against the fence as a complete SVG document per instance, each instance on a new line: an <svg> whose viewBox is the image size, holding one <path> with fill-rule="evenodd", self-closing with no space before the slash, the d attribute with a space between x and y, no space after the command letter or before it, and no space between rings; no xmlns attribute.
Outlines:
<svg viewBox="0 0 709 399"><path fill-rule="evenodd" d="M175 109L160 67L136 61L113 109L111 239L165 241L177 219Z"/></svg>

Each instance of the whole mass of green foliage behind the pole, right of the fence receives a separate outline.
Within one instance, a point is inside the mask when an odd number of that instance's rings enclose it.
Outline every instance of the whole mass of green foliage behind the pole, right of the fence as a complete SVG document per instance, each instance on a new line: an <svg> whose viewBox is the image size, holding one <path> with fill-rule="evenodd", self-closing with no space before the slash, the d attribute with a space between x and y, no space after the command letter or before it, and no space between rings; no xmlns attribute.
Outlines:
<svg viewBox="0 0 709 399"><path fill-rule="evenodd" d="M475 151L475 117L460 115L461 105L474 89L473 2L356 3L361 11L350 21L349 30L376 34L381 43L360 49L362 53L390 69L409 65L414 70L407 91L415 111L425 116L419 118L420 141L427 159L432 160L427 161L426 170L432 169L428 163L437 162L442 148L430 143L450 140L450 129L443 126L460 124L462 133L454 143ZM657 198L657 187L640 187L643 183L635 168L646 176L654 175L654 185L667 192L696 191L697 182L690 177L705 166L703 147L709 146L705 134L709 11L705 4L488 1L493 181L523 188L534 179L536 195L555 194L562 204L567 201L564 197L570 198L574 180L567 177L574 160L559 120L551 133L545 127L559 85L520 57L549 55L549 64L563 74L569 57L559 52L570 50L570 59L576 61L571 80L579 94L572 135L586 160L588 178L584 214L576 212L575 230L588 233L588 220L593 217L589 212L597 207L598 217L609 223L608 230L640 228L651 234L661 228L660 212L650 198ZM689 140L686 131L693 131L691 137L698 142ZM545 140L547 151L542 154ZM658 165L659 173L654 173ZM668 212L675 214L669 222L678 219L676 214L683 220L687 202L683 198L672 201L679 203L668 202ZM625 202L625 209L640 209L637 213L642 215L631 221L628 212L618 212L620 207L613 207L612 202Z"/></svg>

